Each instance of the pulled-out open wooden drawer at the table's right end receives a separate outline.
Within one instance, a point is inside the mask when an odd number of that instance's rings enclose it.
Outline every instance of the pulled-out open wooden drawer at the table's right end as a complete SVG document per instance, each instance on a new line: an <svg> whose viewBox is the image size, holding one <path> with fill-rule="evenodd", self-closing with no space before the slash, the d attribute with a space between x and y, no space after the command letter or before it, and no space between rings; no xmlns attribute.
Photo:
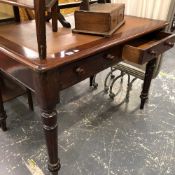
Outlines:
<svg viewBox="0 0 175 175"><path fill-rule="evenodd" d="M125 45L122 58L137 64L144 64L171 49L174 43L175 34L166 32L151 33Z"/></svg>

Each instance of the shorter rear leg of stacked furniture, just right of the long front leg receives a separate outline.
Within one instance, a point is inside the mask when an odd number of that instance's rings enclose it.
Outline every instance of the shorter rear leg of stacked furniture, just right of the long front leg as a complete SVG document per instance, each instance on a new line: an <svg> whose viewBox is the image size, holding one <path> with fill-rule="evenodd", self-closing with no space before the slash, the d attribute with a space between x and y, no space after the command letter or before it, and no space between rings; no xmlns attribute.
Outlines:
<svg viewBox="0 0 175 175"><path fill-rule="evenodd" d="M52 31L57 32L58 31L58 2L54 4L54 6L51 8L51 16L52 16Z"/></svg>

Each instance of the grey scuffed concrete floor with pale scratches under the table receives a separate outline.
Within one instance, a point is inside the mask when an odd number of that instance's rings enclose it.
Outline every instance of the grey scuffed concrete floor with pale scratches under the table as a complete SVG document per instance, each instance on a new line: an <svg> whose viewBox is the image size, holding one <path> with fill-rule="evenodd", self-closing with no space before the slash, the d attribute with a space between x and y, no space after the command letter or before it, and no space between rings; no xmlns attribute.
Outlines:
<svg viewBox="0 0 175 175"><path fill-rule="evenodd" d="M166 53L150 100L139 110L142 81L110 100L103 92L108 70L97 76L97 90L85 80L61 93L59 175L175 174L175 49ZM115 90L119 88L116 84ZM35 103L36 104L36 103ZM7 132L0 132L0 175L48 175L39 109L30 112L25 97L5 104Z"/></svg>

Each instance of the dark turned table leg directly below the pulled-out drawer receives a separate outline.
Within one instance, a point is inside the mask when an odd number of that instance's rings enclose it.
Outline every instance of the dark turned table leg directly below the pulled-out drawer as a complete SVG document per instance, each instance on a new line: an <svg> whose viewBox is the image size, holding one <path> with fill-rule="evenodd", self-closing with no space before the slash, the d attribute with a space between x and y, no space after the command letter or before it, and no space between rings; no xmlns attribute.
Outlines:
<svg viewBox="0 0 175 175"><path fill-rule="evenodd" d="M148 100L148 93L149 93L149 88L151 85L151 80L153 78L155 65L156 65L156 58L149 61L146 65L146 72L145 72L145 78L144 78L144 83L143 83L143 89L142 89L142 93L140 95L140 98L141 98L140 109L144 108L145 102L146 102L146 100Z"/></svg>

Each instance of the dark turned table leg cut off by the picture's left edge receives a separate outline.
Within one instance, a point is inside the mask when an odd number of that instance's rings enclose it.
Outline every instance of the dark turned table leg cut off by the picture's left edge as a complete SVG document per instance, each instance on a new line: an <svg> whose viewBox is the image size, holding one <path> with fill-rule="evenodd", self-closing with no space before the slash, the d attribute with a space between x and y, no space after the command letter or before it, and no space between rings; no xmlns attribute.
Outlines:
<svg viewBox="0 0 175 175"><path fill-rule="evenodd" d="M6 115L6 112L4 110L4 105L3 105L3 100L2 100L1 82L0 82L0 126L1 126L3 131L6 131L7 130L7 127L6 127L7 115Z"/></svg>

